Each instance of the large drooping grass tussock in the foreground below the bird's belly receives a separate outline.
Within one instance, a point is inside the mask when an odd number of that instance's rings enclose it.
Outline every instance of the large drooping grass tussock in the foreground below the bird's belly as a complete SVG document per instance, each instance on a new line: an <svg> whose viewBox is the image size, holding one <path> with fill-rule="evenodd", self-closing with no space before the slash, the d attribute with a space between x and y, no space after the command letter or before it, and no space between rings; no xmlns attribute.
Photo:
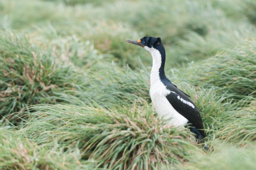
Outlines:
<svg viewBox="0 0 256 170"><path fill-rule="evenodd" d="M199 150L188 130L163 128L151 108L121 112L89 106L38 105L20 132L36 143L78 146L83 159L109 169L151 169L187 161ZM135 109L135 110L134 110Z"/></svg>

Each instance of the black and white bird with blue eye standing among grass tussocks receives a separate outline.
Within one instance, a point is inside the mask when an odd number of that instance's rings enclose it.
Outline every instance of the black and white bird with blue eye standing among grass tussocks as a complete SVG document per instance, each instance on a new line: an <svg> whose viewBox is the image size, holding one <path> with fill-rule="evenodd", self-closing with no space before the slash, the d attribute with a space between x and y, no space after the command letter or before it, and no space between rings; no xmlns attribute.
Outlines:
<svg viewBox="0 0 256 170"><path fill-rule="evenodd" d="M126 42L139 45L152 55L149 94L157 114L168 119L168 123L173 126L190 124L197 142L204 142L204 125L198 108L190 100L190 96L172 84L165 75L165 49L161 39L146 36L137 41ZM209 149L207 145L205 148Z"/></svg>

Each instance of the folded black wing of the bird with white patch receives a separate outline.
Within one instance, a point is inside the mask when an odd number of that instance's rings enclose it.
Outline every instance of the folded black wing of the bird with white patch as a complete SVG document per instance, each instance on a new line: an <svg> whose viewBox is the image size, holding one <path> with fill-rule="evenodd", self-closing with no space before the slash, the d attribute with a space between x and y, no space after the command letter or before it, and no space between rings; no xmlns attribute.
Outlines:
<svg viewBox="0 0 256 170"><path fill-rule="evenodd" d="M172 83L165 84L167 89L171 91L169 95L166 96L172 107L177 110L182 116L184 116L192 126L194 126L198 131L204 136L204 125L198 108L195 104L188 98L184 92L177 88L177 86Z"/></svg>

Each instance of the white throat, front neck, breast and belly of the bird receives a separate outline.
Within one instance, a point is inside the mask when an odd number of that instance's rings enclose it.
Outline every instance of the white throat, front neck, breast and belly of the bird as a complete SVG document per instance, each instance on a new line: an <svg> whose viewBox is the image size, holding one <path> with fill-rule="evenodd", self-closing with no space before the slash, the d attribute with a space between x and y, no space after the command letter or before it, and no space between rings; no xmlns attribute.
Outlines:
<svg viewBox="0 0 256 170"><path fill-rule="evenodd" d="M167 120L170 125L180 126L185 125L188 119L178 113L167 100L166 96L171 92L161 82L159 77L159 68L161 66L161 54L154 48L144 47L149 51L153 58L153 65L150 74L150 90L149 94L154 108L159 117Z"/></svg>

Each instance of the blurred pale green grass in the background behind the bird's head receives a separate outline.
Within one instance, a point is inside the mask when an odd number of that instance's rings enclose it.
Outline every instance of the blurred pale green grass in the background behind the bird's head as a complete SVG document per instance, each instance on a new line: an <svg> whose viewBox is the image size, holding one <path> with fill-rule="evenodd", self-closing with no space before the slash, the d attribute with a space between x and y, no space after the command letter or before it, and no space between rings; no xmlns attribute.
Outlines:
<svg viewBox="0 0 256 170"><path fill-rule="evenodd" d="M90 3L72 7L39 0L2 2L1 13L6 17L0 21L4 28L29 32L35 38L46 35L47 39L52 39L56 35L76 34L92 40L100 52L114 55L120 65L128 63L132 68L137 66L134 56L140 55L146 64L151 60L145 57L145 51L123 44L126 39L136 40L146 34L161 37L168 56L173 59L168 64L177 66L207 58L256 34L255 26L246 19L247 13L243 13L248 10L239 0L236 3L229 1L229 8L217 0L203 3L198 0L182 3L178 0L110 1L97 7ZM159 3L165 5L159 6ZM11 11L17 11L18 15ZM30 12L37 14L30 17ZM20 15L24 17L20 18Z"/></svg>

